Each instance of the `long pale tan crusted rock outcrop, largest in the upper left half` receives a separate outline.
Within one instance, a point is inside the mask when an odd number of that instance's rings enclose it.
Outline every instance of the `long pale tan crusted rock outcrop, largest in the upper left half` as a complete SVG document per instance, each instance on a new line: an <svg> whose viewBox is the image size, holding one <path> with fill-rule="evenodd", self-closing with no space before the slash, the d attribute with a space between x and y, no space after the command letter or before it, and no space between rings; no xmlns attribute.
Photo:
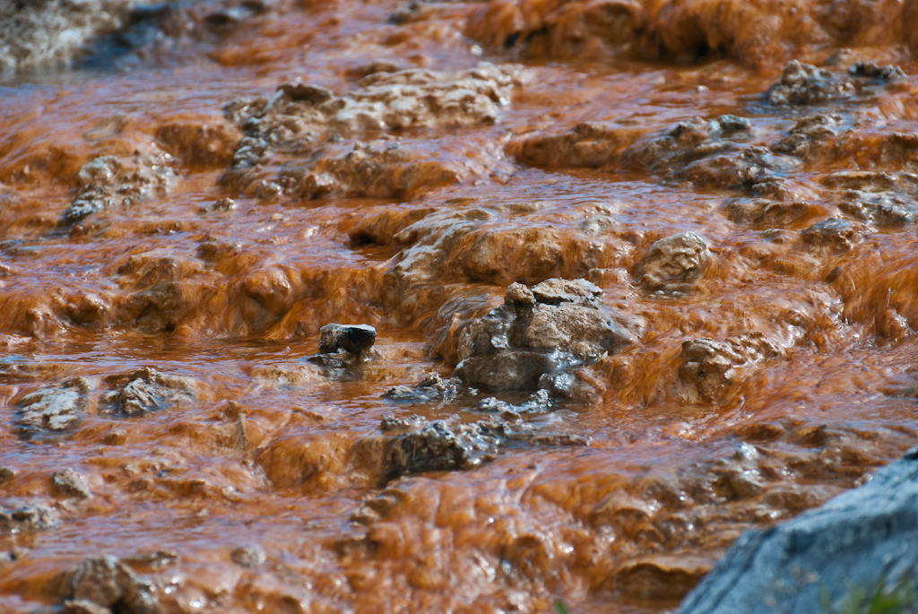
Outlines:
<svg viewBox="0 0 918 614"><path fill-rule="evenodd" d="M341 136L406 128L473 127L498 121L514 86L528 73L519 66L483 62L457 73L424 69L377 71L351 93L336 96L318 85L281 84L270 98L236 99L224 109L247 136L239 143L225 181L262 199L276 195L413 197L432 188L487 173L487 166L431 160L398 140ZM258 167L275 153L305 156L287 162L276 180Z"/></svg>

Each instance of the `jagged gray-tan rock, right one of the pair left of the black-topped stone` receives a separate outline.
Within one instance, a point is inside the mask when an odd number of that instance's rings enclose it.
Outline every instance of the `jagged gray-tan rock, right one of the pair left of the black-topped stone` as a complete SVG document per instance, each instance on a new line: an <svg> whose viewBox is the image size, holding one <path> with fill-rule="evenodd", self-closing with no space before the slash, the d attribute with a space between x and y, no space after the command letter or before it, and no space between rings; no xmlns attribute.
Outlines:
<svg viewBox="0 0 918 614"><path fill-rule="evenodd" d="M143 367L129 374L112 375L106 383L115 390L106 395L115 411L126 416L143 416L195 398L194 385L185 377L164 375Z"/></svg>

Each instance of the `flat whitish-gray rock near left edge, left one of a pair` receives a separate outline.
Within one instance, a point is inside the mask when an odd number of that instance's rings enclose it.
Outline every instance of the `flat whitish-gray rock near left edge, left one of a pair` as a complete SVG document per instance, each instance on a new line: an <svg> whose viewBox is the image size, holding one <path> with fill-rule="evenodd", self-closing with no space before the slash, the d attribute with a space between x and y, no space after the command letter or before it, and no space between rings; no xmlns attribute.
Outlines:
<svg viewBox="0 0 918 614"><path fill-rule="evenodd" d="M93 383L74 377L61 385L39 388L19 401L18 430L31 435L40 432L73 430L88 407L87 393Z"/></svg>

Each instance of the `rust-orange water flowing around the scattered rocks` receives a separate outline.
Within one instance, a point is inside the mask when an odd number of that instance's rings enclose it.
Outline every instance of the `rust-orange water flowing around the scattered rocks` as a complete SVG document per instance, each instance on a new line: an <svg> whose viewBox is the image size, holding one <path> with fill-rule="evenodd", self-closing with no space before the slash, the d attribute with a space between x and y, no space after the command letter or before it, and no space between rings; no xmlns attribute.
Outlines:
<svg viewBox="0 0 918 614"><path fill-rule="evenodd" d="M86 556L173 551L176 564L137 567L169 612L536 612L553 611L556 598L571 612L661 612L742 531L862 483L915 442L916 226L852 218L859 240L840 247L801 230L845 217L845 196L826 177L915 170L912 149L885 144L918 134L918 81L815 107L762 98L795 53L824 62L843 44L845 61L830 67L838 75L869 59L918 73L904 35L865 26L786 46L791 55L771 61L750 50L761 51L749 35L700 59L670 45L683 53L650 61L590 46L611 36L593 30L574 45L585 4L570 3L568 21L536 19L530 30L549 42L527 50L516 39L487 45L515 31L511 8L539 19L561 9L422 4L396 25L387 0L282 3L220 37L183 38L172 23L171 47L145 48L120 70L0 86L0 467L15 472L0 483L0 508L39 505L59 518L0 533L0 553L16 553L0 558L0 611L51 611L61 603L51 579ZM667 24L659 36L676 36ZM398 140L417 159L465 169L445 185L260 198L247 180L223 179L242 135L223 118L230 101L297 79L352 92L353 69L376 59L447 73L513 61L530 78L510 88L494 123L342 131L334 145ZM780 173L775 202L802 203L790 217L731 217L730 202L751 195L667 175L675 167L588 168L564 152L529 163L519 153L524 140L581 122L653 136L724 114L748 117L750 142L771 147L801 117L832 113L842 127L834 140ZM181 139L166 142L162 127L175 122L226 128L217 146L228 151L205 159ZM134 151L174 156L172 190L62 225L84 164ZM308 155L283 152L263 177ZM918 211L914 193L902 194ZM235 208L214 207L226 197ZM415 277L397 273L417 247L398 230L476 207L487 219L471 234L433 244ZM637 287L633 264L687 230L711 248L700 282L676 296ZM386 390L452 372L442 337L453 314L497 306L511 282L559 276L587 277L640 327L636 345L588 370L597 394L524 417L589 445L523 446L475 469L401 477L386 485L394 505L352 520L382 491L352 453L381 419L482 418L449 403L399 405ZM305 358L329 322L374 325L381 356L346 376L313 367ZM736 366L717 394L699 395L680 376L684 341L750 335L777 350ZM105 378L144 366L185 377L194 401L136 418L101 411ZM75 430L17 430L24 396L77 376L93 383L95 401ZM242 408L241 442L229 401ZM50 475L65 468L92 497L52 489ZM263 549L262 564L232 561L247 544Z"/></svg>

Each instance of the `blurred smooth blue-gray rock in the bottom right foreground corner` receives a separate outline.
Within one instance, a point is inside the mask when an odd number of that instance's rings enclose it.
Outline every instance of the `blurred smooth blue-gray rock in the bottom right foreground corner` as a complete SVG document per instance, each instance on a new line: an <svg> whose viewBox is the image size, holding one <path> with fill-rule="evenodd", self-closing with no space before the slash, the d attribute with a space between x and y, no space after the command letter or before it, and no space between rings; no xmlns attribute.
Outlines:
<svg viewBox="0 0 918 614"><path fill-rule="evenodd" d="M678 614L849 611L857 591L869 599L883 586L914 586L916 569L918 448L912 448L866 486L772 529L746 532Z"/></svg>

